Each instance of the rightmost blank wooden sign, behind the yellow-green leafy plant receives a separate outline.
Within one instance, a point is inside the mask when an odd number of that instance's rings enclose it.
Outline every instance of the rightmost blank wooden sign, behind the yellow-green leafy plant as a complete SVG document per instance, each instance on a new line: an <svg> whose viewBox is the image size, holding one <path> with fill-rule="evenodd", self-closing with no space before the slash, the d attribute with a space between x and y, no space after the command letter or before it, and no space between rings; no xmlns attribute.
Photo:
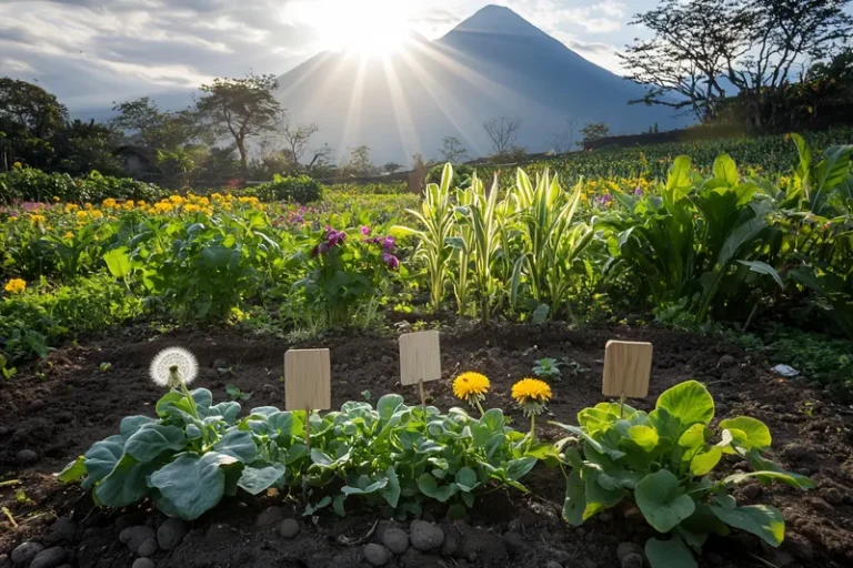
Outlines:
<svg viewBox="0 0 853 568"><path fill-rule="evenodd" d="M604 348L604 396L642 398L649 394L652 344L608 342Z"/></svg>

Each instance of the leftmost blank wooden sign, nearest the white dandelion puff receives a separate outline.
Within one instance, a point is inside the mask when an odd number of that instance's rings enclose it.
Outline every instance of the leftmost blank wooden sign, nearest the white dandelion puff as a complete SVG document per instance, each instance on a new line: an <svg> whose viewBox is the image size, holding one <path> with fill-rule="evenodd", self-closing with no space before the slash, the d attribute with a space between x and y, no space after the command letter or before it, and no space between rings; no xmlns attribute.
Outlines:
<svg viewBox="0 0 853 568"><path fill-rule="evenodd" d="M288 410L327 410L332 406L329 349L290 349L284 354L284 406Z"/></svg>

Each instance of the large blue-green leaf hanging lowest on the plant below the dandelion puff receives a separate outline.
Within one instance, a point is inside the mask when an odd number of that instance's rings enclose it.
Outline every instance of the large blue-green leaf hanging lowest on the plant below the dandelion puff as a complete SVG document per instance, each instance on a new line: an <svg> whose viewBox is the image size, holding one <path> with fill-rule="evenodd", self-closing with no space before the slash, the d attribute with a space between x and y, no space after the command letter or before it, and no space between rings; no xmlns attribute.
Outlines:
<svg viewBox="0 0 853 568"><path fill-rule="evenodd" d="M149 483L175 515L183 520L194 520L220 501L225 489L225 475L220 467L235 462L232 456L218 452L208 452L201 457L183 454L154 471Z"/></svg>

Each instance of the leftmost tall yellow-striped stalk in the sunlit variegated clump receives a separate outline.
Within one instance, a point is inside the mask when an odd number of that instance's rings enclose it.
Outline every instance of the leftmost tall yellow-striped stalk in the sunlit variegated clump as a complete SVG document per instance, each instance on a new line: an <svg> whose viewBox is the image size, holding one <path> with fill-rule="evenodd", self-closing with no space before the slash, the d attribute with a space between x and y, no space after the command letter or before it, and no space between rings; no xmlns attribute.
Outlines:
<svg viewBox="0 0 853 568"><path fill-rule="evenodd" d="M441 183L430 183L421 205L421 211L407 210L423 229L397 225L393 231L418 237L415 256L426 263L430 285L430 304L434 310L441 306L448 281L448 260L452 248L448 237L453 235L454 216L450 202L450 182L453 166L446 164L441 175Z"/></svg>

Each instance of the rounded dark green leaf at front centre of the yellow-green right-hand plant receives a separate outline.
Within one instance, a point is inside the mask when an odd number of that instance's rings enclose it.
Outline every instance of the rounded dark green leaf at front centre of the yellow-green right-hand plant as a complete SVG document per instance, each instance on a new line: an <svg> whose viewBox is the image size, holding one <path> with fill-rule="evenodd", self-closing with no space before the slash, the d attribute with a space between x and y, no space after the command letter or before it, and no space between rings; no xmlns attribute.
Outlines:
<svg viewBox="0 0 853 568"><path fill-rule="evenodd" d="M636 506L659 532L669 532L695 510L693 499L679 486L679 478L661 469L636 484Z"/></svg>

